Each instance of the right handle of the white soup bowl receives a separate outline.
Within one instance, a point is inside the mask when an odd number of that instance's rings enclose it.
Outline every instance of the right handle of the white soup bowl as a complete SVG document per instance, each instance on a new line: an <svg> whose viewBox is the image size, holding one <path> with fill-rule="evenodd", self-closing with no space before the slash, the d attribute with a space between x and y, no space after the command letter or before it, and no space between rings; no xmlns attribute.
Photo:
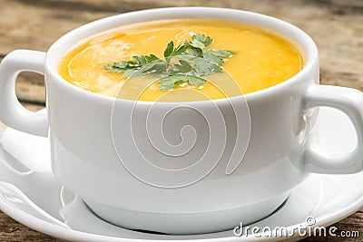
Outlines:
<svg viewBox="0 0 363 242"><path fill-rule="evenodd" d="M357 132L358 144L355 150L335 156L324 156L313 150L311 139L306 142L304 152L305 169L314 173L349 174L363 167L363 92L339 86L314 84L305 97L305 108L330 107L345 112Z"/></svg>

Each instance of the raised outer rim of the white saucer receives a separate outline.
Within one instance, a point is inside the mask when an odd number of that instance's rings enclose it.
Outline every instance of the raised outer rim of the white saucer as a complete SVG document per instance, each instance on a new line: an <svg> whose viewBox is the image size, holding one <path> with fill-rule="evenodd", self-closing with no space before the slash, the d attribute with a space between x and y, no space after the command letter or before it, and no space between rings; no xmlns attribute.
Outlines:
<svg viewBox="0 0 363 242"><path fill-rule="evenodd" d="M321 179L321 177L326 175L314 174L309 176L307 179L311 179L311 177L317 177ZM8 183L11 184L11 183ZM11 184L14 185L14 184ZM293 192L293 190L291 191ZM360 194L357 198L352 198L348 202L346 202L346 206L341 208L334 209L329 213L325 213L316 217L316 224L314 227L328 227L341 219L347 218L351 214L358 211L359 208L363 206L363 193ZM44 221L41 218L36 218L32 215L29 215L25 211L16 208L9 204L5 198L0 195L0 209L10 218L15 219L17 222L23 224L26 227L30 227L36 231L44 233L46 235L57 237L61 239L66 239L70 241L84 241L84 242L95 242L95 241L110 241L110 242L154 242L158 241L158 239L144 239L144 238L135 238L135 237L112 237L112 236L103 236L92 234L88 232L83 232L79 230L74 230L72 228L60 227L58 225L54 225L50 222ZM305 222L305 221L304 221ZM303 223L298 223L294 225L290 225L287 229L291 229L294 227L299 227L299 225L303 225ZM214 238L186 238L186 239L162 239L161 241L173 241L173 242L185 242L185 241L205 241L205 242L229 242L229 241L278 241L284 239L293 239L297 238L299 235L294 233L291 237L214 237ZM300 237L301 239L304 237Z"/></svg>

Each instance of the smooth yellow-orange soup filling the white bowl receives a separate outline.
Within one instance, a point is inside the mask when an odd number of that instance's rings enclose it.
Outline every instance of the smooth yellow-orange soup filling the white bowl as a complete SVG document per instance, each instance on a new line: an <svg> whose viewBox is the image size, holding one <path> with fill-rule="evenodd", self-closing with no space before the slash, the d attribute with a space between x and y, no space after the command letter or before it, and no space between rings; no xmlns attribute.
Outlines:
<svg viewBox="0 0 363 242"><path fill-rule="evenodd" d="M191 42L193 34L211 36L210 50L228 50L222 70L201 76L201 85L175 82L161 89L160 76L127 78L104 65L154 54L163 59L165 47ZM202 57L201 57L202 58ZM288 40L248 24L207 19L172 19L123 25L98 34L67 53L59 65L62 77L75 86L111 97L141 101L183 102L220 99L256 92L288 80L303 67L302 56Z"/></svg>

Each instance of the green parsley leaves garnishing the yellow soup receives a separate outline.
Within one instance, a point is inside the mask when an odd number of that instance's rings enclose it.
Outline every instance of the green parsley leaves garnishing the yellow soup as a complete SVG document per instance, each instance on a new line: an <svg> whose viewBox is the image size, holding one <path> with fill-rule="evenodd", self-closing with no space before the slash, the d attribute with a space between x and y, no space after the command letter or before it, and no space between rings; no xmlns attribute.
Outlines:
<svg viewBox="0 0 363 242"><path fill-rule="evenodd" d="M103 68L109 73L123 73L125 77L157 74L160 90L171 90L183 82L201 86L208 82L201 76L221 72L225 59L234 54L226 50L206 49L212 42L211 36L193 34L191 41L182 45L174 46L171 41L164 50L164 60L154 54L135 55L130 61L107 63Z"/></svg>

